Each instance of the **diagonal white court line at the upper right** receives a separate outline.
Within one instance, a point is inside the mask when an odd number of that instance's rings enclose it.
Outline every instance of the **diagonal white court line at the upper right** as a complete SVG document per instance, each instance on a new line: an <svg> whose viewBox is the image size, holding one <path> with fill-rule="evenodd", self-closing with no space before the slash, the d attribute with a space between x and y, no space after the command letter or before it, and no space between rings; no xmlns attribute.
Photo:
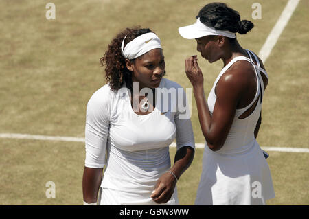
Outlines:
<svg viewBox="0 0 309 219"><path fill-rule="evenodd" d="M290 17L292 16L298 3L299 0L290 0L286 4L286 8L284 8L282 11L281 16L273 27L273 30L271 30L271 33L268 35L264 45L262 46L262 49L259 52L259 56L262 62L265 62L268 56L271 54L271 50L277 43L279 36L282 34L284 27L286 27L286 24L290 20Z"/></svg>

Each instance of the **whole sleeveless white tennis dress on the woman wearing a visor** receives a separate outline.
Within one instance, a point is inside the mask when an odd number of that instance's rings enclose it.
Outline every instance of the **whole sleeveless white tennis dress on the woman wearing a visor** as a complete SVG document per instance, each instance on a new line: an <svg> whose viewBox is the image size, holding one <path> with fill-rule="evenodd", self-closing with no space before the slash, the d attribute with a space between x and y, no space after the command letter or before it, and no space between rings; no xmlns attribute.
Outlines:
<svg viewBox="0 0 309 219"><path fill-rule="evenodd" d="M265 205L265 200L275 196L268 163L254 137L255 125L262 108L261 97L264 93L260 73L268 76L260 67L255 54L247 52L251 59L244 56L233 58L220 71L209 93L207 102L209 111L213 113L216 104L215 87L222 74L238 60L246 60L254 66L258 82L254 100L247 107L236 110L233 124L220 150L214 152L205 143L203 171L195 205ZM257 60L257 65L254 64L251 54ZM238 119L257 98L258 104L253 113L244 119Z"/></svg>

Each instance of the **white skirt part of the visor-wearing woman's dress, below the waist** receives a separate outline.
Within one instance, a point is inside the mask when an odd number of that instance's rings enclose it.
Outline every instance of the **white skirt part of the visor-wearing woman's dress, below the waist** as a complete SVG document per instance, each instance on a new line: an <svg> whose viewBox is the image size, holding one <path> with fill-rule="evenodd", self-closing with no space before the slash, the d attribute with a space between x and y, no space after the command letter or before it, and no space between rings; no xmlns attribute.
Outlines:
<svg viewBox="0 0 309 219"><path fill-rule="evenodd" d="M205 145L195 205L266 205L275 196L258 142L248 148L242 154L220 154Z"/></svg>

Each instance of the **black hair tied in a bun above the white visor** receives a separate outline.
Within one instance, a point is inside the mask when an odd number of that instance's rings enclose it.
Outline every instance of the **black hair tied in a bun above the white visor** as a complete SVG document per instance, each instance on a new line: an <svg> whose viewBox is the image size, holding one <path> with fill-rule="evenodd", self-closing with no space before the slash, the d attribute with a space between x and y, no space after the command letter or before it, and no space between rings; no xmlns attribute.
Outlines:
<svg viewBox="0 0 309 219"><path fill-rule="evenodd" d="M209 3L205 5L196 19L200 18L201 23L216 30L229 30L239 34L247 34L254 24L251 21L240 20L236 10L229 8L225 3Z"/></svg>

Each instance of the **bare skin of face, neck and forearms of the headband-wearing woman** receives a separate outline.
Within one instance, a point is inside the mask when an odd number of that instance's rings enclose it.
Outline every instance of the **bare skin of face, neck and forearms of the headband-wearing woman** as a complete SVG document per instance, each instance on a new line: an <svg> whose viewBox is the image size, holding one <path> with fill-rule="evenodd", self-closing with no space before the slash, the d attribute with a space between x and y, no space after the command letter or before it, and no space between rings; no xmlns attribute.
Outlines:
<svg viewBox="0 0 309 219"><path fill-rule="evenodd" d="M126 59L126 67L133 72L133 82L139 82L139 91L144 88L155 89L159 87L161 78L165 69L164 56L161 49L152 49L148 53L136 58L134 62ZM131 97L131 105L133 106L133 98ZM139 102L145 96L137 97ZM146 115L151 113L155 108L155 93L153 100L148 100L150 111L143 111L141 108L135 113L137 115ZM140 106L140 104L139 104ZM187 170L192 163L194 150L190 146L185 146L177 150L174 158L174 165L170 171L174 172L177 178ZM98 198L98 190L102 181L103 168L84 168L84 176L82 181L82 189L84 201L87 203L95 203ZM167 203L176 186L176 178L169 172L161 175L158 179L155 190L150 196L156 203Z"/></svg>

